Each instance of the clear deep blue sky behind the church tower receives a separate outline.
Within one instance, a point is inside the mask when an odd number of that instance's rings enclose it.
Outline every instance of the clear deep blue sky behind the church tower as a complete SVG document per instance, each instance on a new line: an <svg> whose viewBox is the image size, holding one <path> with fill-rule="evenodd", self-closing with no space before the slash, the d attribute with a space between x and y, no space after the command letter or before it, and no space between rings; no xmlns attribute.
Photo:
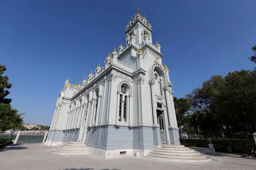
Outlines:
<svg viewBox="0 0 256 170"><path fill-rule="evenodd" d="M88 76L125 42L131 15L145 14L183 97L212 75L252 69L255 0L0 1L0 64L13 83L12 105L24 122L50 125L67 76Z"/></svg>

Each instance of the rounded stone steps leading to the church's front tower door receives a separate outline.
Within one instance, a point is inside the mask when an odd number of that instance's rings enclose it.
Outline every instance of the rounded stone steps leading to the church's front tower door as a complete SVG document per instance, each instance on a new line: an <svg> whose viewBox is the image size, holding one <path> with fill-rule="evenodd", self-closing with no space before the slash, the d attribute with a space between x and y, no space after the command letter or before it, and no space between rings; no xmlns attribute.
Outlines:
<svg viewBox="0 0 256 170"><path fill-rule="evenodd" d="M170 144L162 145L159 149L153 149L148 156L154 156L172 161L185 161L185 162L205 162L212 159L206 157L203 153L199 153L184 145Z"/></svg>

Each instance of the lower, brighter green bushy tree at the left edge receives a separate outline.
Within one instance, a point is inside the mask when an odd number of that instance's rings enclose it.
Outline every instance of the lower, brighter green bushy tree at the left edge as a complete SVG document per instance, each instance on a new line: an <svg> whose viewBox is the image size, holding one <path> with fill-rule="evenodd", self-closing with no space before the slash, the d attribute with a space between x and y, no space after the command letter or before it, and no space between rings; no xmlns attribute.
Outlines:
<svg viewBox="0 0 256 170"><path fill-rule="evenodd" d="M24 114L24 113L23 113ZM9 104L0 104L0 131L12 128L21 128L23 123L23 114L18 114L16 109L12 109Z"/></svg>

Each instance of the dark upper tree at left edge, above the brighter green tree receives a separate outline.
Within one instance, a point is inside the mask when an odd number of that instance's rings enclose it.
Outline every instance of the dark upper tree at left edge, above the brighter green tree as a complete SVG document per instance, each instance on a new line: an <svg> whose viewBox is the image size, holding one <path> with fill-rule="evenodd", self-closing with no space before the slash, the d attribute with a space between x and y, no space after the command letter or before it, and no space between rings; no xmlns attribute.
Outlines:
<svg viewBox="0 0 256 170"><path fill-rule="evenodd" d="M7 89L12 87L12 83L9 83L9 78L7 76L3 76L3 73L6 71L5 65L0 65L0 103L2 104L10 104L12 99L6 98L6 96L10 93Z"/></svg>

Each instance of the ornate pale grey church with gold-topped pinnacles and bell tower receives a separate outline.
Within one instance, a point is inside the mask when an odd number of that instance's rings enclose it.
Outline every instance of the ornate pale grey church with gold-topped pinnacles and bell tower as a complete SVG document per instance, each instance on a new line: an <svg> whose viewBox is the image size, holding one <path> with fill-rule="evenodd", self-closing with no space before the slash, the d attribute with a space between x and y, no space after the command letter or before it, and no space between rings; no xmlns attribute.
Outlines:
<svg viewBox="0 0 256 170"><path fill-rule="evenodd" d="M112 157L180 144L169 69L152 31L137 8L125 28L125 46L114 48L82 83L67 78L46 145L84 142L91 154Z"/></svg>

